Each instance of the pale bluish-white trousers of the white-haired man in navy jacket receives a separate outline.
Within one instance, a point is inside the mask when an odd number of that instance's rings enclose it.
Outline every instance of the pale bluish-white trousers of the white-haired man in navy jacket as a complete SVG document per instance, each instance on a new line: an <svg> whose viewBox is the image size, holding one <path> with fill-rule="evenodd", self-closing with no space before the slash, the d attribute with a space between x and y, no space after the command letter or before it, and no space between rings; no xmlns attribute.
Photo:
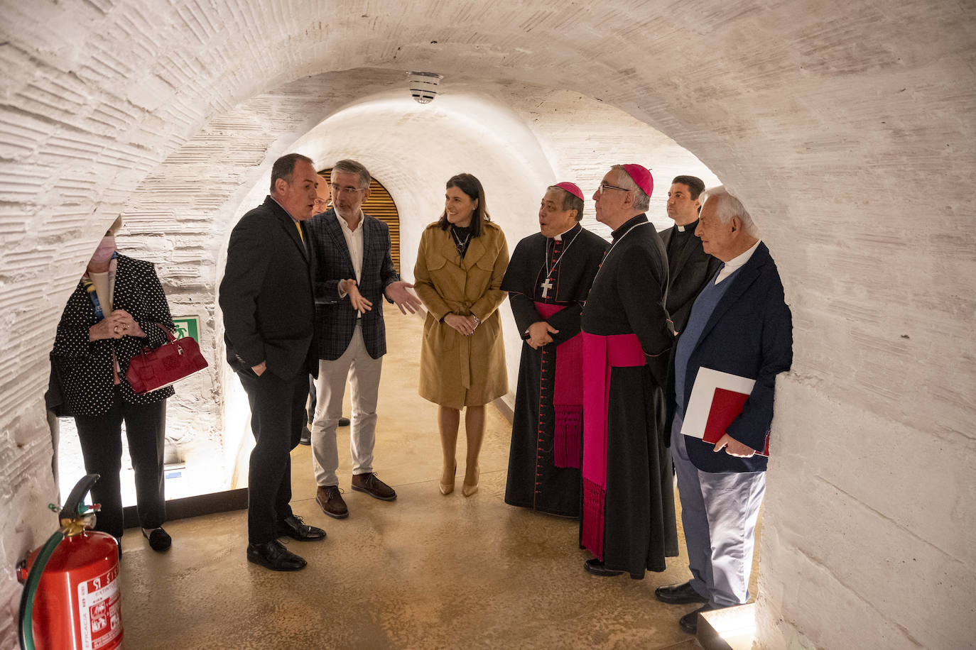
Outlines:
<svg viewBox="0 0 976 650"><path fill-rule="evenodd" d="M688 460L681 419L671 429L671 458L681 498L691 586L713 605L749 600L755 520L766 490L765 472L713 474ZM718 453L725 453L719 451Z"/></svg>

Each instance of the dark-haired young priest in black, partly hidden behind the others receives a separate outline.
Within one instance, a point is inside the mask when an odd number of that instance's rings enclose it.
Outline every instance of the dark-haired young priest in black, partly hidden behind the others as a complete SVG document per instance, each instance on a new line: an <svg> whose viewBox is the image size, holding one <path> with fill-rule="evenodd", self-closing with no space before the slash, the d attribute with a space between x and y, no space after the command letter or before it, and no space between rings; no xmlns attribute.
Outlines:
<svg viewBox="0 0 976 650"><path fill-rule="evenodd" d="M702 209L698 198L704 191L701 178L674 176L668 192L668 216L674 219L674 225L660 233L668 251L668 313L678 332L684 331L695 298L721 263L705 252L702 240L695 237L698 212Z"/></svg>

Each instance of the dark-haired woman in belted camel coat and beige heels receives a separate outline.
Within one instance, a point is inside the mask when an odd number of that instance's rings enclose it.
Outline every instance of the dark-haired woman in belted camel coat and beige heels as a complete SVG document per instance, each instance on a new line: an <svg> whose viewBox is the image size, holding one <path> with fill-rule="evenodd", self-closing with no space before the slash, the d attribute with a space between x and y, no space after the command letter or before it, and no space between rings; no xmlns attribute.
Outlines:
<svg viewBox="0 0 976 650"><path fill-rule="evenodd" d="M502 229L489 220L480 181L461 173L447 181L445 208L421 236L414 268L427 307L421 347L420 394L440 405L444 464L440 491L454 490L458 428L465 409L467 467L462 492L478 488L484 405L508 393L505 345L498 308L508 268Z"/></svg>

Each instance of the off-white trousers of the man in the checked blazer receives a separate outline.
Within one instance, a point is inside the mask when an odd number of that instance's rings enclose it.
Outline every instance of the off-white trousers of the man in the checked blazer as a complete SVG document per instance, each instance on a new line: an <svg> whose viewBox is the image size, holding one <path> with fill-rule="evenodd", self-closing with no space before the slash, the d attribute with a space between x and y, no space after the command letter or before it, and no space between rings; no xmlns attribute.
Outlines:
<svg viewBox="0 0 976 650"><path fill-rule="evenodd" d="M376 404L382 368L383 357L373 359L366 352L362 327L358 323L342 357L335 361L319 360L318 379L315 380L315 419L311 425L311 467L318 485L339 484L336 428L343 416L346 381L352 401L352 431L349 435L352 474L373 471Z"/></svg>

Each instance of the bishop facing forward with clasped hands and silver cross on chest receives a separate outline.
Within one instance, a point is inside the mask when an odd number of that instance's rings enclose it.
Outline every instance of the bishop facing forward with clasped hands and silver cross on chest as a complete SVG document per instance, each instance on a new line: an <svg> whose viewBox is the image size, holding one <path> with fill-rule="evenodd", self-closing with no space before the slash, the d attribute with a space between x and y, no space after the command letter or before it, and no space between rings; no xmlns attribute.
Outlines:
<svg viewBox="0 0 976 650"><path fill-rule="evenodd" d="M541 232L518 243L502 283L524 340L505 501L561 516L580 516L580 316L608 246L582 218L580 188L550 185L539 208Z"/></svg>

